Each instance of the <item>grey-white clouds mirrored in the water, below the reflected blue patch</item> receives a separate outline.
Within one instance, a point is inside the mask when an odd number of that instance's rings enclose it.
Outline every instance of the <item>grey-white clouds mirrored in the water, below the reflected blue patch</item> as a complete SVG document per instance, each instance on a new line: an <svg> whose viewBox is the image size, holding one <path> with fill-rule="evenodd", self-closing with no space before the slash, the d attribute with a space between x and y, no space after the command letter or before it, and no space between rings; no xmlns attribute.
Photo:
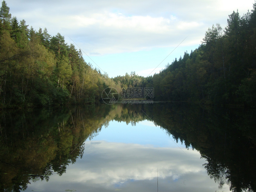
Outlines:
<svg viewBox="0 0 256 192"><path fill-rule="evenodd" d="M184 154L179 148L86 141L83 158L69 165L65 174L52 175L47 185L32 183L28 190L156 191L157 170L159 191L218 190L203 163L199 152L193 150ZM229 187L224 187L228 191Z"/></svg>

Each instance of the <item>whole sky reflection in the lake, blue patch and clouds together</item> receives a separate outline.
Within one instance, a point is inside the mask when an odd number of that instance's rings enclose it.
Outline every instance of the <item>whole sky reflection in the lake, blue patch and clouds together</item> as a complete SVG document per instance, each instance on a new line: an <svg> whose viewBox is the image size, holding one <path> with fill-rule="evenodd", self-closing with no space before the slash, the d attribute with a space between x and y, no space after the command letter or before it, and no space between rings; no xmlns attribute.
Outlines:
<svg viewBox="0 0 256 192"><path fill-rule="evenodd" d="M174 144L147 120L136 126L110 121L84 148L82 159L69 164L61 177L31 182L27 191L153 192L158 177L159 191L229 192L228 185L219 189L210 179L198 151Z"/></svg>

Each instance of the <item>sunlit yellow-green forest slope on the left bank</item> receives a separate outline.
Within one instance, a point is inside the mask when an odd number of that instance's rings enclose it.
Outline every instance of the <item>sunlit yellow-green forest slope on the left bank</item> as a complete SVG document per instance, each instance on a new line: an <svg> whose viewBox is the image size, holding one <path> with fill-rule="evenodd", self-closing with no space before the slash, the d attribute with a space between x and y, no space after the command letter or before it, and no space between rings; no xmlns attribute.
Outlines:
<svg viewBox="0 0 256 192"><path fill-rule="evenodd" d="M0 10L0 107L28 107L99 101L102 90L118 87L67 45L64 36L35 31Z"/></svg>

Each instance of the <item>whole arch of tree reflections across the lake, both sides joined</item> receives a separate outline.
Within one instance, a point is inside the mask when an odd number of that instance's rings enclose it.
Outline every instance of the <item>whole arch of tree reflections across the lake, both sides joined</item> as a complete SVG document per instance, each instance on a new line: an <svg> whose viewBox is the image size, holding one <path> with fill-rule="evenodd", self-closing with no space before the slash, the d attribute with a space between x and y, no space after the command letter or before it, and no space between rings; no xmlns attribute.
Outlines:
<svg viewBox="0 0 256 192"><path fill-rule="evenodd" d="M0 190L62 175L83 155L83 143L109 121L145 119L166 129L207 160L208 175L232 191L255 191L255 112L202 109L188 104L93 105L0 113Z"/></svg>

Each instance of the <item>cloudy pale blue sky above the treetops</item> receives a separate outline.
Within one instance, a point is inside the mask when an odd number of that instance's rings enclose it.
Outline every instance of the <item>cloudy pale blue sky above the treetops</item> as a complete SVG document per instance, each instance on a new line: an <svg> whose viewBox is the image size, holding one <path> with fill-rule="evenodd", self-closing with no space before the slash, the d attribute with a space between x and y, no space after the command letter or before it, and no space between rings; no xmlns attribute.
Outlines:
<svg viewBox="0 0 256 192"><path fill-rule="evenodd" d="M252 10L254 0L6 0L12 16L36 31L59 32L81 49L87 63L109 77L159 73L196 49L213 24L224 29L234 10Z"/></svg>

